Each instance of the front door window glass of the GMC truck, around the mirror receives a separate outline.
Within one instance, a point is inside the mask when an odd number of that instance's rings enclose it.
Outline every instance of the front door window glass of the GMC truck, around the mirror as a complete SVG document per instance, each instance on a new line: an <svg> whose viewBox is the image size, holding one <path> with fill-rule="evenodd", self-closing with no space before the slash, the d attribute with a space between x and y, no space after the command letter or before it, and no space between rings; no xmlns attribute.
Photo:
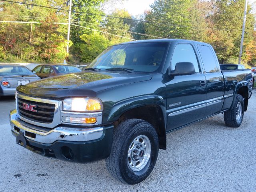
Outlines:
<svg viewBox="0 0 256 192"><path fill-rule="evenodd" d="M171 61L171 69L174 70L176 63L179 62L190 62L194 64L196 73L200 72L195 51L190 44L178 44L174 48Z"/></svg>

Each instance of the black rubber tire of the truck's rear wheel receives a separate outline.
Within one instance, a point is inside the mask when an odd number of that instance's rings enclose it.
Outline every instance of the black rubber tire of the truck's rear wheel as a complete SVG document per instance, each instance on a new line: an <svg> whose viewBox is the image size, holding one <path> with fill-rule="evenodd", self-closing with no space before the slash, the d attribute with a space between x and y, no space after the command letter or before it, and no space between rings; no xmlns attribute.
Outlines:
<svg viewBox="0 0 256 192"><path fill-rule="evenodd" d="M242 114L241 114L240 118L237 119L236 112L237 112L237 107L238 107L239 103L242 107L242 109L241 109ZM242 124L243 118L244 118L244 98L242 97L242 95L238 94L233 108L224 112L224 121L225 121L226 126L239 127Z"/></svg>

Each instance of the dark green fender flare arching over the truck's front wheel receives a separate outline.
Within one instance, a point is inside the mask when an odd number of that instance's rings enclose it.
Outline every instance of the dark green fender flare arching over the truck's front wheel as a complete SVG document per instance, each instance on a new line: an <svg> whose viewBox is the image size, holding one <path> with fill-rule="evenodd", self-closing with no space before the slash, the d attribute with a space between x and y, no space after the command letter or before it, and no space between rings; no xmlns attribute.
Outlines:
<svg viewBox="0 0 256 192"><path fill-rule="evenodd" d="M124 112L131 110L133 108L142 107L146 105L158 105L162 109L162 113L164 116L164 123L166 127L166 106L164 99L158 95L146 95L146 96L138 96L134 98L129 98L126 100L122 100L114 104L112 109L110 110L108 116L108 122L114 122L118 120L118 118L124 114Z"/></svg>

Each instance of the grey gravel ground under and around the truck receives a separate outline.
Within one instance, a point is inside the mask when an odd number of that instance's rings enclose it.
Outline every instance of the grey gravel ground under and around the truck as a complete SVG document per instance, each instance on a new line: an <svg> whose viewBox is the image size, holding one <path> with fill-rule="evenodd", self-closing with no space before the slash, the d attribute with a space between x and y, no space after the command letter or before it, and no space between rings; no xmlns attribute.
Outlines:
<svg viewBox="0 0 256 192"><path fill-rule="evenodd" d="M8 112L14 99L0 100L0 192L10 191L256 191L256 90L239 128L223 115L167 134L156 166L140 184L122 184L105 161L77 164L50 159L18 146Z"/></svg>

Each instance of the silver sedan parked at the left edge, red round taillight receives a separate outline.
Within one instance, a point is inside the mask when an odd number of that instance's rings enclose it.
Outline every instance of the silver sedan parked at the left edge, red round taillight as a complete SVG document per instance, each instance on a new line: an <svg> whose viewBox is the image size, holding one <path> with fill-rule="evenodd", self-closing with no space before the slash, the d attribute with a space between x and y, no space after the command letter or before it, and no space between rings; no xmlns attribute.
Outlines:
<svg viewBox="0 0 256 192"><path fill-rule="evenodd" d="M0 64L0 96L15 95L16 87L40 78L28 68L16 64Z"/></svg>

